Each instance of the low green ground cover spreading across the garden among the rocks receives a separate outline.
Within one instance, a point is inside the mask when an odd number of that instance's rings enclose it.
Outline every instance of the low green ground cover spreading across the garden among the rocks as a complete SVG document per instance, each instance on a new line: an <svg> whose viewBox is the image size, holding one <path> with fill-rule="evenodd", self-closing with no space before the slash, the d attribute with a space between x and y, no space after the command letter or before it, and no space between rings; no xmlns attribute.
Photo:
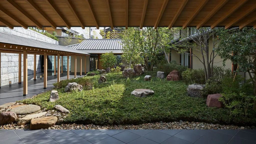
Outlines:
<svg viewBox="0 0 256 144"><path fill-rule="evenodd" d="M151 75L151 81L144 81ZM114 125L142 124L159 121L196 121L219 124L255 124L256 114L247 117L233 117L228 109L207 107L206 98L187 96L187 85L183 81L167 81L155 77L156 72L146 72L142 76L126 80L121 72L109 73L107 82L98 84L99 75L83 77L90 81L92 89L65 93L57 89L59 100L48 102L50 91L21 102L36 104L53 109L56 104L67 108L71 113L66 123ZM154 90L155 94L137 98L131 92L137 88Z"/></svg>

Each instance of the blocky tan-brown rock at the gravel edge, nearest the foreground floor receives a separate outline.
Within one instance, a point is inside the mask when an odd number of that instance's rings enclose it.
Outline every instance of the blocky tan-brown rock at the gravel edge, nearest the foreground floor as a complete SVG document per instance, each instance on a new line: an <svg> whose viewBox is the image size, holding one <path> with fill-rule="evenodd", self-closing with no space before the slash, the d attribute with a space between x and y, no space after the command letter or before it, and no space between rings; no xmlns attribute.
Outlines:
<svg viewBox="0 0 256 144"><path fill-rule="evenodd" d="M40 117L30 121L30 129L47 129L56 124L58 118L56 116Z"/></svg>

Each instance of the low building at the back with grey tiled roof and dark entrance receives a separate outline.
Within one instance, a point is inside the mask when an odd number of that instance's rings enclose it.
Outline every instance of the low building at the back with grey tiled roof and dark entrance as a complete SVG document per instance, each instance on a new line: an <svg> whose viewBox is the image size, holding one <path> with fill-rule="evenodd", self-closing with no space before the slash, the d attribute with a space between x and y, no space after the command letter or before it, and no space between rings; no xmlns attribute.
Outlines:
<svg viewBox="0 0 256 144"><path fill-rule="evenodd" d="M113 52L122 62L122 44L121 39L86 39L80 44L70 45L73 49L78 49L90 54L87 64L90 65L90 71L103 69L100 64L101 54Z"/></svg>

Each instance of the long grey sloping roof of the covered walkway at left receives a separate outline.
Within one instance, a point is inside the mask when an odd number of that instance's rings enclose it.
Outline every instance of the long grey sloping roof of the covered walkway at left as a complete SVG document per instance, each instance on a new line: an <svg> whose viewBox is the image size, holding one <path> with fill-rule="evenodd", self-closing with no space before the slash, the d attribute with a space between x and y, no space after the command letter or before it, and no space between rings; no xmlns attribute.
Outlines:
<svg viewBox="0 0 256 144"><path fill-rule="evenodd" d="M0 32L0 43L35 47L35 48L44 48L44 49L50 49L50 50L60 50L64 52L90 55L88 53L82 52L80 50L72 49L66 46L55 45L55 44L42 42L42 41L31 39L31 38L16 36L12 34L6 34L2 32Z"/></svg>

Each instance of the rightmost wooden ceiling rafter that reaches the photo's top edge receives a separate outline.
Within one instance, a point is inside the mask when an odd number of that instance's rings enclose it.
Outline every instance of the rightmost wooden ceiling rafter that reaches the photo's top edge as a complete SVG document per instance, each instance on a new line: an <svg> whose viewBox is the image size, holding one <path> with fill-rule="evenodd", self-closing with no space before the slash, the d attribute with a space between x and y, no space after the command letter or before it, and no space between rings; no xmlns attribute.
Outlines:
<svg viewBox="0 0 256 144"><path fill-rule="evenodd" d="M219 25L223 20L229 17L233 12L235 12L240 6L242 6L248 0L240 0L235 6L233 6L228 12L226 12L220 19L218 19L214 24L211 25L211 28L214 29Z"/></svg>

